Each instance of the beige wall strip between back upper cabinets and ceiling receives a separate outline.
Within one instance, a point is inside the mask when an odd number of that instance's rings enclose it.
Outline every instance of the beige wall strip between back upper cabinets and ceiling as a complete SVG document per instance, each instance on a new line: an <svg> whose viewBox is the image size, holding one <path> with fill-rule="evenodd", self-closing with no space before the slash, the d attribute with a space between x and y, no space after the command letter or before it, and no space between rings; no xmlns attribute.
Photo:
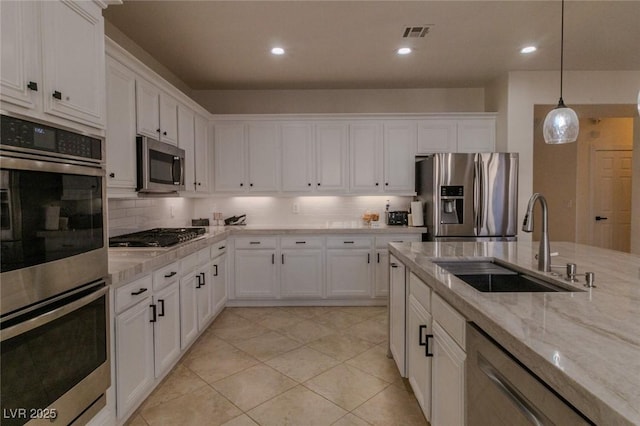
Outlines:
<svg viewBox="0 0 640 426"><path fill-rule="evenodd" d="M214 114L484 112L484 89L194 90Z"/></svg>

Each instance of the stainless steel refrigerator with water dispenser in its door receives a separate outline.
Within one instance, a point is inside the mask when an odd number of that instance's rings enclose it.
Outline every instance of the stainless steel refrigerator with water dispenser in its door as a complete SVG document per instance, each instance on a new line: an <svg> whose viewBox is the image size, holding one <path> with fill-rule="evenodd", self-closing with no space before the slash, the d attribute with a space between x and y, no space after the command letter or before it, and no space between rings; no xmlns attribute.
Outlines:
<svg viewBox="0 0 640 426"><path fill-rule="evenodd" d="M518 154L439 153L416 158L427 240L515 241Z"/></svg>

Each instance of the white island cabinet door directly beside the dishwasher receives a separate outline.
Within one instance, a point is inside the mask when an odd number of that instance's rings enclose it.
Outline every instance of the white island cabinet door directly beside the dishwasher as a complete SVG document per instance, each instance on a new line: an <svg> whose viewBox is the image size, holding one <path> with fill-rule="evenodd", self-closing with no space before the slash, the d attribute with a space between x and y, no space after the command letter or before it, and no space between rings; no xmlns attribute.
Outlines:
<svg viewBox="0 0 640 426"><path fill-rule="evenodd" d="M432 424L465 424L466 354L446 331L433 321Z"/></svg>

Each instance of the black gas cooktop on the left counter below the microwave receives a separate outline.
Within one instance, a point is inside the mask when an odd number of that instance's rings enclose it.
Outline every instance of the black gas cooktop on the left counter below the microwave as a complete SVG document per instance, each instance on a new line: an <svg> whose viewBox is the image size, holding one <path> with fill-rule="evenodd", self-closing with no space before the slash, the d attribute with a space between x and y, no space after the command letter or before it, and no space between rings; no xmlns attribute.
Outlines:
<svg viewBox="0 0 640 426"><path fill-rule="evenodd" d="M109 247L170 247L204 235L205 228L154 228L109 238Z"/></svg>

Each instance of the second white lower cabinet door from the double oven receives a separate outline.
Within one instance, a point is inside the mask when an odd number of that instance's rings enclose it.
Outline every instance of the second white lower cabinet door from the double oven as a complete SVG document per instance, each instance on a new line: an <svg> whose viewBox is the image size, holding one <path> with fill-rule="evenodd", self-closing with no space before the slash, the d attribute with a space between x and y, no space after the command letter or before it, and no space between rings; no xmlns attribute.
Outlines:
<svg viewBox="0 0 640 426"><path fill-rule="evenodd" d="M180 355L180 285L174 284L153 297L156 322L153 330L155 373L160 377Z"/></svg>

